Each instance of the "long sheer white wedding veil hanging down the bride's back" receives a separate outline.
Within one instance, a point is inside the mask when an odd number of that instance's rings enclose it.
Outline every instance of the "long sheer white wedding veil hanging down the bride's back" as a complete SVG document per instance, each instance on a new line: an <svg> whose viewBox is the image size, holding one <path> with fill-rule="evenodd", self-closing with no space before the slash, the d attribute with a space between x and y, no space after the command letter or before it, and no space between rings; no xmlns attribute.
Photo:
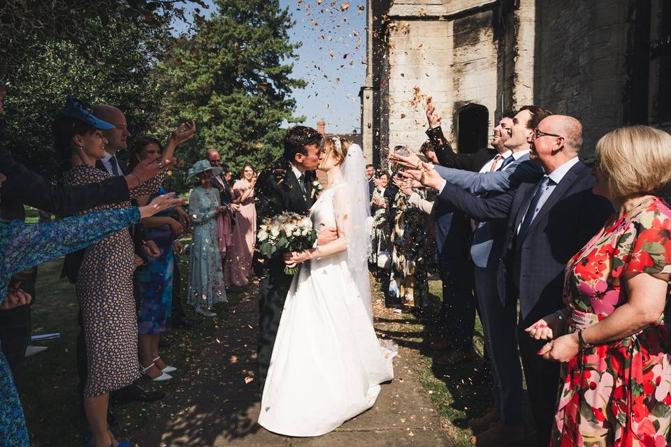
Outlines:
<svg viewBox="0 0 671 447"><path fill-rule="evenodd" d="M368 278L368 257L370 240L370 200L366 179L366 161L361 146L352 143L340 168L347 184L345 207L349 216L343 219L343 233L347 242L347 267L356 288L359 289L370 321L373 321L373 307L370 302L370 282Z"/></svg>

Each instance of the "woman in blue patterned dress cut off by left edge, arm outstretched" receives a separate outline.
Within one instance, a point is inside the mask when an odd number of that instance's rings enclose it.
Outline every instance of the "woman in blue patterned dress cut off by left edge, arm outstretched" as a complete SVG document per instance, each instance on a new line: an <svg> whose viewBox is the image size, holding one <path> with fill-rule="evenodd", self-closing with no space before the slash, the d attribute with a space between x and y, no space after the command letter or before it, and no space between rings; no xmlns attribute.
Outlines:
<svg viewBox="0 0 671 447"><path fill-rule="evenodd" d="M0 174L0 185L3 180L4 176ZM15 272L85 248L127 228L140 217L151 216L180 202L172 199L172 196L161 196L139 209L127 207L87 214L85 217L67 217L50 223L0 223L0 304L7 298L9 280ZM0 447L29 445L12 373L0 349Z"/></svg>

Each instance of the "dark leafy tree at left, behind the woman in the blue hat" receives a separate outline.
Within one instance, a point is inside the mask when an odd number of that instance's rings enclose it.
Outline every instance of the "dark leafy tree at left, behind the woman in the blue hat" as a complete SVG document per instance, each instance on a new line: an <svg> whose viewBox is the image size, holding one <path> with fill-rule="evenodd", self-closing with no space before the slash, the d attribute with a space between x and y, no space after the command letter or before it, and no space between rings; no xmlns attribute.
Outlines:
<svg viewBox="0 0 671 447"><path fill-rule="evenodd" d="M116 105L136 135L157 126L164 91L153 69L170 39L167 24L116 27L117 19L111 20L86 37L89 50L97 48L94 56L70 41L46 41L24 48L25 57L14 68L0 145L51 179L64 164L52 149L51 123L68 95Z"/></svg>

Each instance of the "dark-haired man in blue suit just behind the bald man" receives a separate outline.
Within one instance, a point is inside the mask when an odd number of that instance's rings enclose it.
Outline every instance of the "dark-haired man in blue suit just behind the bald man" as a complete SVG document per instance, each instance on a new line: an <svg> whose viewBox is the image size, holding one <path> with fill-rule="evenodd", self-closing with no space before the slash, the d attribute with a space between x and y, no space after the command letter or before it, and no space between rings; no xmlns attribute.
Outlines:
<svg viewBox="0 0 671 447"><path fill-rule="evenodd" d="M503 117L494 129L503 147L479 173L436 166L441 177L470 193L491 197L517 189L524 181L537 182L543 175L538 163L529 160L528 137L550 112L526 105L512 118ZM470 245L474 264L475 290L482 321L484 343L492 369L494 409L482 418L469 421L475 434L488 430L499 421L524 437L522 372L517 349L517 304L506 302L497 287L499 257L505 240L505 219L476 223ZM513 430L517 427L517 430Z"/></svg>

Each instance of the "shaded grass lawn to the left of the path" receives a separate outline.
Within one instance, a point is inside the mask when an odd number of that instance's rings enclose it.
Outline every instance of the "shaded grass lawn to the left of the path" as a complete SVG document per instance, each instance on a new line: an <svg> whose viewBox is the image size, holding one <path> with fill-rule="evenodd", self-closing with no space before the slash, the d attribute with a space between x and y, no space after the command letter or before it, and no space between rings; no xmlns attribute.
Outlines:
<svg viewBox="0 0 671 447"><path fill-rule="evenodd" d="M26 359L17 383L34 447L84 445L81 434L86 420L80 411L75 360L78 304L74 286L65 279L59 279L61 268L62 260L39 266L36 301L31 308L34 335L60 332L61 337L36 343L49 349ZM181 263L180 268L182 286L186 288L187 264ZM165 338L170 346L161 349L161 356L170 365L178 367L178 372L173 373L175 379L162 385L143 380L141 383L145 388L164 390L170 394L180 377L197 365L203 346L212 342L215 325L225 322L228 314L226 307L239 300L236 291L229 292L228 298L228 303L215 308L220 315L215 320L207 319L194 330L166 332ZM159 405L161 401L114 406L113 411L119 421L117 436L123 438L126 432L136 432L152 418Z"/></svg>

